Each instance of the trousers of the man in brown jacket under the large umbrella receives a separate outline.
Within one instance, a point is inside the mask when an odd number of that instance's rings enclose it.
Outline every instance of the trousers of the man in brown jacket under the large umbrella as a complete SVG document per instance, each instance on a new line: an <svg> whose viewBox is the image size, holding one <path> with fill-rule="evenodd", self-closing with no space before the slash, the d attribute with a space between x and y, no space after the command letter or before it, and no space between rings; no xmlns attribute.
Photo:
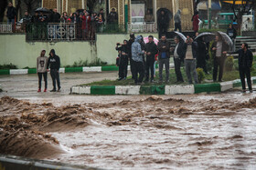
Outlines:
<svg viewBox="0 0 256 170"><path fill-rule="evenodd" d="M223 70L225 64L225 57L219 56L215 57L213 61L213 81L217 80L218 68L219 68L219 82L222 80Z"/></svg>

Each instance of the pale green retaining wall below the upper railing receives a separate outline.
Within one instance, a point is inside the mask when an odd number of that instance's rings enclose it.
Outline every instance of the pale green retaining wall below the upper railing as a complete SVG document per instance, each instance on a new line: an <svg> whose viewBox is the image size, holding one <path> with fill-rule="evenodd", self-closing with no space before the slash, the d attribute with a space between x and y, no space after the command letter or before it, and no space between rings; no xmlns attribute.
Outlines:
<svg viewBox="0 0 256 170"><path fill-rule="evenodd" d="M155 35L152 33L144 36ZM129 39L128 34L105 35L97 34L96 41L63 41L63 42L26 42L25 34L0 34L0 65L16 65L18 68L37 65L37 56L42 49L53 48L60 57L61 66L73 65L74 62L88 61L91 63L98 57L108 65L115 64L116 43Z"/></svg>

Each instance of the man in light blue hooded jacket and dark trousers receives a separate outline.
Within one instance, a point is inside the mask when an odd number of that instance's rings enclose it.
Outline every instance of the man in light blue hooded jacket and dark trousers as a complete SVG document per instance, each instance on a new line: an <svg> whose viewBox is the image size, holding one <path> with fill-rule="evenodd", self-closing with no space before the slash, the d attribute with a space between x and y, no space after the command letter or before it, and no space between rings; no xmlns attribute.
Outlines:
<svg viewBox="0 0 256 170"><path fill-rule="evenodd" d="M135 41L132 45L132 59L133 59L133 69L134 69L134 83L135 85L141 84L144 78L144 50L140 45L142 41L142 36L137 35ZM139 79L138 79L138 74Z"/></svg>

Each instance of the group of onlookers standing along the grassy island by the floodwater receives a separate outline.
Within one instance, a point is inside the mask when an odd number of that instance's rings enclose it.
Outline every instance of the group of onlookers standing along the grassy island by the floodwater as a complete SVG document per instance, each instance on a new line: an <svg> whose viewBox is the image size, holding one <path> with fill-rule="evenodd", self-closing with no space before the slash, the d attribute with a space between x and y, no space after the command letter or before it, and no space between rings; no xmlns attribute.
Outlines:
<svg viewBox="0 0 256 170"><path fill-rule="evenodd" d="M198 33L196 36L199 35ZM180 36L174 38L176 46L173 47L166 40L166 36L162 35L157 45L154 42L154 36L148 36L148 43L144 43L142 35L130 35L130 39L124 40L123 45L117 44L118 51L117 65L119 66L119 78L123 80L127 78L127 66L130 61L132 78L135 85L143 85L144 83L154 82L155 78L155 61L159 63L159 83L163 82L163 68L165 67L165 84L169 83L169 64L170 57L173 56L176 73L176 83L183 83L184 78L181 74L181 64L185 65L188 84L197 84L197 67L203 68L208 73L208 45L204 42L204 38L197 38L194 41L192 37L187 36L183 41ZM251 91L251 65L252 53L248 49L248 45L243 43L241 49L237 52L229 51L229 45L217 34L213 45L209 49L213 55L213 82L222 82L224 64L227 54L239 54L239 68L242 89L245 90L245 76L247 76L249 90ZM157 56L157 57L156 57ZM218 74L219 72L219 74ZM150 74L151 73L151 74ZM145 78L144 78L145 75ZM194 80L194 81L193 81Z"/></svg>

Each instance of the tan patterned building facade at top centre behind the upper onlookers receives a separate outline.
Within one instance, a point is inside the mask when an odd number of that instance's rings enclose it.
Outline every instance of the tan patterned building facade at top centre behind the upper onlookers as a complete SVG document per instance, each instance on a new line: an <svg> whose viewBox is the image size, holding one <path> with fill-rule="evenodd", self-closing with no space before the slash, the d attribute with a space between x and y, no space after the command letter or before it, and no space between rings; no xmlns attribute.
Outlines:
<svg viewBox="0 0 256 170"><path fill-rule="evenodd" d="M168 10L172 16L178 9L181 10L181 22L183 30L192 30L191 18L194 15L193 0L108 0L108 10L115 8L119 14L119 24L124 24L124 6L128 5L128 22L131 23L132 16L141 16L149 9L152 11L155 22L157 22L157 11ZM134 8L141 8L135 9ZM174 19L170 20L169 28L174 28Z"/></svg>

